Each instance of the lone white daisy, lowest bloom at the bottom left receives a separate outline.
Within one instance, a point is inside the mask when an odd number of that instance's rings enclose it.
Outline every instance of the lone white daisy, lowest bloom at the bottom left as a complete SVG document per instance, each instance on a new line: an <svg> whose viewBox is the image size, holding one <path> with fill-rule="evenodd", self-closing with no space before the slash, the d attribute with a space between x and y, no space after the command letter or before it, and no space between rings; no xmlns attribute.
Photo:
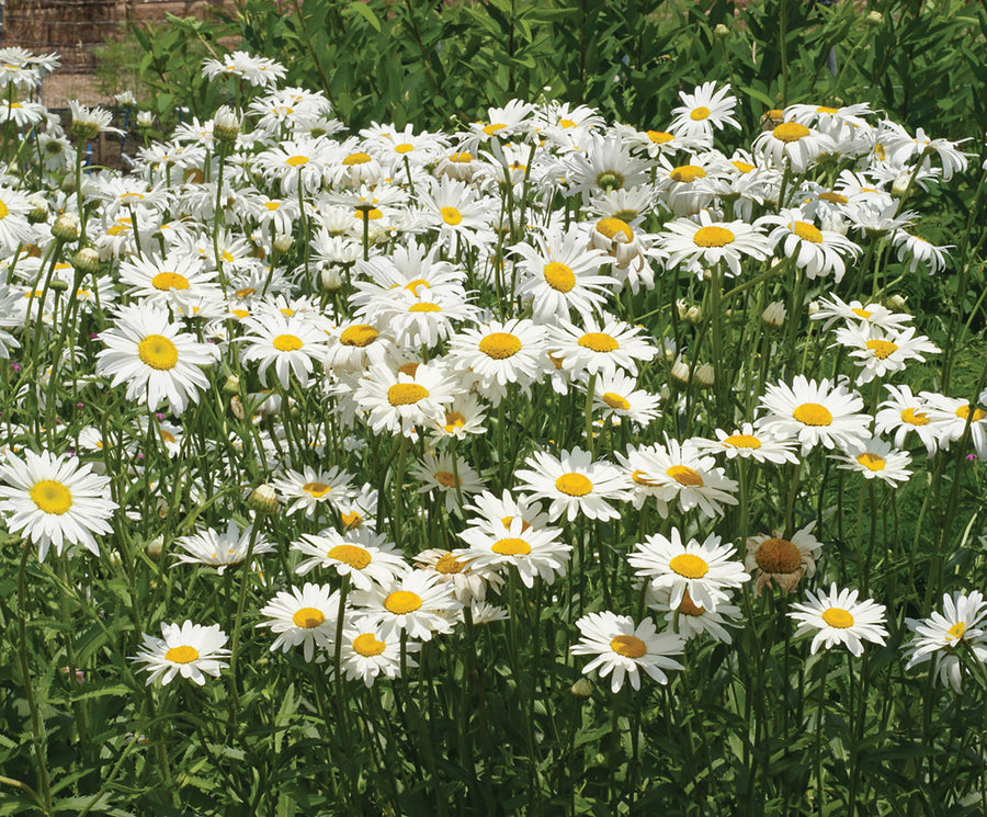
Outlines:
<svg viewBox="0 0 987 817"><path fill-rule="evenodd" d="M218 624L204 627L188 620L181 626L162 623L161 635L163 638L155 638L145 633L137 655L131 658L145 665L140 669L150 673L148 683L160 679L162 685L168 685L181 674L202 686L205 676L218 678L219 671L229 666L222 660L230 653L224 648L227 636Z"/></svg>

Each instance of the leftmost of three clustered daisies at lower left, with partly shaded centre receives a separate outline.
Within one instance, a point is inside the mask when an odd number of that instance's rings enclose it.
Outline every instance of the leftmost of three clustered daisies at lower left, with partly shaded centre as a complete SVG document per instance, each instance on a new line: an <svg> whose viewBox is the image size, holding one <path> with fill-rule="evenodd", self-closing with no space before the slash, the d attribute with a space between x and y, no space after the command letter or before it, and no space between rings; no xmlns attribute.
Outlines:
<svg viewBox="0 0 987 817"><path fill-rule="evenodd" d="M283 590L260 611L269 616L256 626L270 627L277 635L271 644L271 651L281 647L287 653L302 645L305 660L310 661L315 648L329 648L336 638L336 623L339 615L339 591L329 585L305 583L300 590Z"/></svg>

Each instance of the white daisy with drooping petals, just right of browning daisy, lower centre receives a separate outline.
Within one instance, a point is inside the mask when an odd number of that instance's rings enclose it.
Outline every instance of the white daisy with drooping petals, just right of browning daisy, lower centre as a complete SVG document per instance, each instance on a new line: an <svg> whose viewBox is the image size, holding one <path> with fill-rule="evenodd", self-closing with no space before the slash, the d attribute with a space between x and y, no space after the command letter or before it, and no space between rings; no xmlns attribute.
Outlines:
<svg viewBox="0 0 987 817"><path fill-rule="evenodd" d="M469 547L453 551L453 555L469 565L472 570L488 574L511 566L524 587L534 587L538 577L551 585L565 576L571 545L557 542L561 531L555 527L533 527L521 517L501 523L500 530L473 525L462 531L460 538Z"/></svg>

